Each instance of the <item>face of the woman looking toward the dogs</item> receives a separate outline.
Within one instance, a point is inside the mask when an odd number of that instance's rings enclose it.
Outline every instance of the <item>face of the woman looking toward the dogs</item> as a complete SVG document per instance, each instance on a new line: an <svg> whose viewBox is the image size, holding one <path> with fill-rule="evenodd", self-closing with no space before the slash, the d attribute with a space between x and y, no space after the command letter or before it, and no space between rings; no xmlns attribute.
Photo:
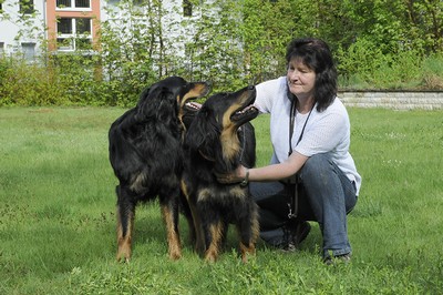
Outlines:
<svg viewBox="0 0 443 295"><path fill-rule="evenodd" d="M286 74L289 91L297 98L310 98L313 95L316 72L308 68L300 59L292 59L288 64Z"/></svg>

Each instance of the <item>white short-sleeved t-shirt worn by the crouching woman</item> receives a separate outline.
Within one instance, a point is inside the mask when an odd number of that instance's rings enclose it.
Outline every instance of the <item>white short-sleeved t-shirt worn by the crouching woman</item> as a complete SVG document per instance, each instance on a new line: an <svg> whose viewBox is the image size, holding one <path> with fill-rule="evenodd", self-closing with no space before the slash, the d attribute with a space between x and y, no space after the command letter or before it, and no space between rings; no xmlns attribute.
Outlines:
<svg viewBox="0 0 443 295"><path fill-rule="evenodd" d="M286 161L289 153L291 102L287 96L286 83L286 77L280 77L256 85L255 105L261 113L270 114L270 138L274 148L272 164ZM296 113L291 139L292 151L306 156L330 153L338 167L350 181L356 182L358 195L361 176L357 172L354 161L349 153L351 132L349 115L344 105L336 98L324 111L318 112L313 108L309 119L308 115ZM297 144L307 119L302 139Z"/></svg>

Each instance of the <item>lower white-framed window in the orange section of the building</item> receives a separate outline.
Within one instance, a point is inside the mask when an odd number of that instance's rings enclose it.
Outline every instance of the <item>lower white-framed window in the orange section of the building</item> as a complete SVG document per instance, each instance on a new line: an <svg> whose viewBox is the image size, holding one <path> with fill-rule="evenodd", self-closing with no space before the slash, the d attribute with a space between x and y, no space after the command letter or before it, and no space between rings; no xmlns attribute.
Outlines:
<svg viewBox="0 0 443 295"><path fill-rule="evenodd" d="M92 20L86 18L60 18L56 23L59 50L91 50Z"/></svg>

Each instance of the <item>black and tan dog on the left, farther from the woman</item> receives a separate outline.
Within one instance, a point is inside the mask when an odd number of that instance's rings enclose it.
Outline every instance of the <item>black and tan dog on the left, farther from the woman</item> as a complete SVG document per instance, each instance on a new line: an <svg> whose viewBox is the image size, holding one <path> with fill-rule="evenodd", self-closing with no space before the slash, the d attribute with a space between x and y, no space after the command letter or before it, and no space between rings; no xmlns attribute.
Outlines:
<svg viewBox="0 0 443 295"><path fill-rule="evenodd" d="M137 105L111 125L110 162L120 182L116 186L119 261L131 257L136 204L156 196L166 224L169 257L181 257L183 110L187 100L206 95L208 91L205 82L166 78L145 89Z"/></svg>

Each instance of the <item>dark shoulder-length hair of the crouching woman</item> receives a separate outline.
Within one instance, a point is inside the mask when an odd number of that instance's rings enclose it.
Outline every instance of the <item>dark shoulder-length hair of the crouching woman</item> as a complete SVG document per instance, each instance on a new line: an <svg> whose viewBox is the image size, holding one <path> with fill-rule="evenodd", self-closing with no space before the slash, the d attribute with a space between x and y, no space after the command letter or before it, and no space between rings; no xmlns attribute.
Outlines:
<svg viewBox="0 0 443 295"><path fill-rule="evenodd" d="M299 59L309 69L316 72L313 98L317 111L324 111L337 96L337 69L329 45L316 38L293 39L286 50L286 62ZM295 95L289 92L292 100Z"/></svg>

